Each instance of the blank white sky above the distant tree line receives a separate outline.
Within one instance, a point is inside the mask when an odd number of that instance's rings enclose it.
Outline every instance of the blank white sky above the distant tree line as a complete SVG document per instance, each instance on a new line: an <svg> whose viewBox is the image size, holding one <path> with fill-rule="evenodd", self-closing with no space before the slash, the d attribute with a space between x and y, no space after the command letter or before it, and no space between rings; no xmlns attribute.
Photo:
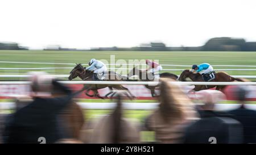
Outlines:
<svg viewBox="0 0 256 155"><path fill-rule="evenodd" d="M199 46L211 37L256 41L254 0L1 0L0 41L31 48Z"/></svg>

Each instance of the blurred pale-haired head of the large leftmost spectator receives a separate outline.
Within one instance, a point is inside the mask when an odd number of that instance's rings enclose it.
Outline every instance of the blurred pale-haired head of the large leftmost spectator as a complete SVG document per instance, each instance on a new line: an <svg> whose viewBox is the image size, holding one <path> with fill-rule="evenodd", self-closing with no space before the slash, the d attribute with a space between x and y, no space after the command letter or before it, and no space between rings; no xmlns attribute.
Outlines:
<svg viewBox="0 0 256 155"><path fill-rule="evenodd" d="M31 82L32 95L49 96L52 90L53 77L46 72L30 72L28 73Z"/></svg>

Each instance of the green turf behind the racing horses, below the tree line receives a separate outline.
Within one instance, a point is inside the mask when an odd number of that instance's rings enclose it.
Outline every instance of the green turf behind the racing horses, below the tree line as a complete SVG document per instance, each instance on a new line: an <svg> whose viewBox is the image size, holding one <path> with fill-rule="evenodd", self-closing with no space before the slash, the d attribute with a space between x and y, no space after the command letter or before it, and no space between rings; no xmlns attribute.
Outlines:
<svg viewBox="0 0 256 155"><path fill-rule="evenodd" d="M256 52L88 52L88 51L0 51L0 61L24 62L61 62L84 63L90 58L110 60L159 60L160 64L192 65L208 62L212 65L256 65ZM0 63L0 68L41 68L41 67L72 67L72 65L52 64L9 64ZM164 66L164 69L188 69L187 67ZM214 67L215 69L232 69L244 67ZM68 74L71 69L45 70L52 74ZM28 70L1 70L0 74L26 74ZM166 72L166 71L164 71ZM232 75L256 75L256 71L226 71ZM180 74L181 71L172 71Z"/></svg>

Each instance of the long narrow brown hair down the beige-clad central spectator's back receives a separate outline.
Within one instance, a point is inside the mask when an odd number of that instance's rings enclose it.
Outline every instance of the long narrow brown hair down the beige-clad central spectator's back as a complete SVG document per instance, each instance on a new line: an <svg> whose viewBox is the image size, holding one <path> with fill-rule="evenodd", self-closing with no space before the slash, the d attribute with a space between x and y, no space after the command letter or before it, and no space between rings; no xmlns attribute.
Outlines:
<svg viewBox="0 0 256 155"><path fill-rule="evenodd" d="M111 135L112 137L112 142L117 144L121 141L121 133L122 133L122 128L121 128L121 119L122 119L122 101L121 101L121 95L117 96L117 107L115 107L114 112L112 113L113 117L113 130L110 131L112 132Z"/></svg>

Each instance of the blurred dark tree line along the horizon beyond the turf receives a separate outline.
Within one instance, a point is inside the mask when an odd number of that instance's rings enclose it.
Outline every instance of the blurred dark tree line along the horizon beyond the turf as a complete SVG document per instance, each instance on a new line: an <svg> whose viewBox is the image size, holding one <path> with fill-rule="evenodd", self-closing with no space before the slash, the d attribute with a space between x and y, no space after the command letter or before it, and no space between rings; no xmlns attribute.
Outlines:
<svg viewBox="0 0 256 155"><path fill-rule="evenodd" d="M0 43L0 50L28 50L27 47L20 47L17 43ZM61 48L60 45L50 45L43 50L46 51L255 51L256 42L246 42L245 39L232 37L214 37L200 47L167 47L164 43L151 42L141 44L138 47L99 47L91 49Z"/></svg>

